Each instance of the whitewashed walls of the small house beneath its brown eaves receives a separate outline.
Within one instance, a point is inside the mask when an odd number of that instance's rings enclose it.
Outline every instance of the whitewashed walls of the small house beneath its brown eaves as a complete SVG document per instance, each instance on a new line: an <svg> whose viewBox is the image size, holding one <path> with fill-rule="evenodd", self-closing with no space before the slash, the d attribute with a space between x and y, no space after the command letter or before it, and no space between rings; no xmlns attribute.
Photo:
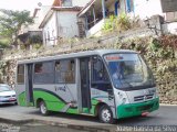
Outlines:
<svg viewBox="0 0 177 132"><path fill-rule="evenodd" d="M56 45L58 38L79 36L76 14L77 12L74 11L54 11L43 28L43 44L45 46Z"/></svg>

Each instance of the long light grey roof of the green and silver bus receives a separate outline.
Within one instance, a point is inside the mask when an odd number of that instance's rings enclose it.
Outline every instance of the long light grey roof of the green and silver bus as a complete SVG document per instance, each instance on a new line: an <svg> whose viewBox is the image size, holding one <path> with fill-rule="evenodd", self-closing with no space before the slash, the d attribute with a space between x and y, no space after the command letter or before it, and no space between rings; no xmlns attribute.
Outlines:
<svg viewBox="0 0 177 132"><path fill-rule="evenodd" d="M38 57L32 59L23 59L23 61L19 61L18 64L30 64L30 63L38 63L38 62L54 61L54 59L84 57L84 56L91 56L91 55L103 56L110 53L137 53L137 52L131 51L131 50L95 50L95 51L85 51L85 52L77 52L77 53L70 53L70 54L60 54L55 56Z"/></svg>

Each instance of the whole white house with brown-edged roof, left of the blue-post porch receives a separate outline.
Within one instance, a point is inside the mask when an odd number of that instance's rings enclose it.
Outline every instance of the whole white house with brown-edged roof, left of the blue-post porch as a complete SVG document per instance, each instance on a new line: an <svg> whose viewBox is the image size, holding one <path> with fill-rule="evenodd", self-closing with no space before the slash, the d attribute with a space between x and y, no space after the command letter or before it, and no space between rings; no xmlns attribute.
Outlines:
<svg viewBox="0 0 177 132"><path fill-rule="evenodd" d="M54 0L40 24L45 46L55 45L60 40L82 37L82 23L77 13L90 0Z"/></svg>

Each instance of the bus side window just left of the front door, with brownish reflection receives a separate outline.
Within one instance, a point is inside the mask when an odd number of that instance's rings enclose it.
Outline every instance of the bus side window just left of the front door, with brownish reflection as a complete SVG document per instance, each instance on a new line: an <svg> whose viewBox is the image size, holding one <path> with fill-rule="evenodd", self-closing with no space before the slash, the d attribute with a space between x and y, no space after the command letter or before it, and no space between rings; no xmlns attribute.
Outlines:
<svg viewBox="0 0 177 132"><path fill-rule="evenodd" d="M73 59L55 62L55 82L75 82L75 63Z"/></svg>

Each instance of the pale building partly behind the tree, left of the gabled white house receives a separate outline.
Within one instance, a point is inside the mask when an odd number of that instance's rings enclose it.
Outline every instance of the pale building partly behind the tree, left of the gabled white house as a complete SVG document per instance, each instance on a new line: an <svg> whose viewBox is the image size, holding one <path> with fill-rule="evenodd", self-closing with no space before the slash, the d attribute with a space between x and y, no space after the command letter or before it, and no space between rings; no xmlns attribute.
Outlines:
<svg viewBox="0 0 177 132"><path fill-rule="evenodd" d="M39 21L39 15L40 15L40 9L35 8L32 14L33 18L33 24L29 25L22 25L19 34L18 34L18 40L19 40L19 47L23 46L25 50L32 48L34 44L42 44L42 30L39 29L40 21Z"/></svg>

